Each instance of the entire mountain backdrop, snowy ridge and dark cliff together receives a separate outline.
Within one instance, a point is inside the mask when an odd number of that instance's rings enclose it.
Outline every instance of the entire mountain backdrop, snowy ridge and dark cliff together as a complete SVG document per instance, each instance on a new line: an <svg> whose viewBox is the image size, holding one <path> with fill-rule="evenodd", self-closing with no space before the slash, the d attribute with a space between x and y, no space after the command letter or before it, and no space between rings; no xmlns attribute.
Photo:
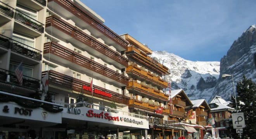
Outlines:
<svg viewBox="0 0 256 139"><path fill-rule="evenodd" d="M243 75L256 81L255 53L256 25L252 25L234 41L220 62L189 61L166 51L154 51L151 57L169 68L170 75L164 79L171 81L171 90L183 89L190 100L210 102L216 95L224 100L234 96L232 76L223 79L222 74L233 75L235 86Z"/></svg>

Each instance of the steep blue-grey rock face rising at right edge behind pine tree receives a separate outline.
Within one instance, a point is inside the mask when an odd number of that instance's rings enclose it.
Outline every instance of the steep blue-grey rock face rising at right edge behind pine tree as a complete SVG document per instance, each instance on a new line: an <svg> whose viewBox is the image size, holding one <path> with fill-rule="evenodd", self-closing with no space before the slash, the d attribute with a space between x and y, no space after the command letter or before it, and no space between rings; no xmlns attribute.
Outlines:
<svg viewBox="0 0 256 139"><path fill-rule="evenodd" d="M227 55L221 58L220 76L211 98L218 95L224 100L230 100L230 96L234 96L232 76L223 79L221 78L223 74L233 75L235 86L237 81L242 80L243 75L256 81L254 54L256 54L256 25L251 25L233 42Z"/></svg>

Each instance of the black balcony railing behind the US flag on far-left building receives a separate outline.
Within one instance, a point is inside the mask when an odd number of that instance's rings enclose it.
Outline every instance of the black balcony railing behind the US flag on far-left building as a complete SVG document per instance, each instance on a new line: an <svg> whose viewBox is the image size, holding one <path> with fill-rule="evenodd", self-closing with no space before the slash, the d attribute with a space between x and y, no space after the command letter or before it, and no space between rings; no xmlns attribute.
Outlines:
<svg viewBox="0 0 256 139"><path fill-rule="evenodd" d="M8 77L9 75L9 77ZM7 77L9 78L7 81ZM30 90L38 90L40 88L40 80L37 80L35 78L31 78L28 76L23 75L22 76L22 85L19 85L19 81L17 80L17 77L14 72L4 70L0 68L0 82L1 83L7 83L10 85L20 86L22 88L27 88ZM9 91L12 91L11 88Z"/></svg>

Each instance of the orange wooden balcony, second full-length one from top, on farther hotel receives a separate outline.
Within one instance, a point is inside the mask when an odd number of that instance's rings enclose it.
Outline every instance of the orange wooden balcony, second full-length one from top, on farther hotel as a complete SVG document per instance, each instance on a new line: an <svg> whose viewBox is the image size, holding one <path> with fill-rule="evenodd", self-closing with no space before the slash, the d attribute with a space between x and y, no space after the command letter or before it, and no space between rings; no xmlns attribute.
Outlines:
<svg viewBox="0 0 256 139"><path fill-rule="evenodd" d="M138 68L137 64L131 64L126 68L126 73L135 73L137 76L142 76L150 81L152 84L161 86L161 88L167 88L168 83L160 79L159 76L154 76L150 72L144 71L141 68Z"/></svg>

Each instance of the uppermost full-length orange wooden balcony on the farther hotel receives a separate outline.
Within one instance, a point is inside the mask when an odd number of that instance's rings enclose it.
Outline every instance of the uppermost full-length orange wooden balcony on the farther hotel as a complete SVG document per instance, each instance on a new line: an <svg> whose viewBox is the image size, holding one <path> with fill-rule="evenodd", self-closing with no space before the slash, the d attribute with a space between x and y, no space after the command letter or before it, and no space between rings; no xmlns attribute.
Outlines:
<svg viewBox="0 0 256 139"><path fill-rule="evenodd" d="M126 56L131 56L132 58L136 59L137 61L140 61L141 63L145 64L147 67L150 67L159 73L164 73L165 75L170 74L166 66L158 63L157 61L150 58L149 56L146 56L142 51L136 49L134 46L128 47L126 51Z"/></svg>

